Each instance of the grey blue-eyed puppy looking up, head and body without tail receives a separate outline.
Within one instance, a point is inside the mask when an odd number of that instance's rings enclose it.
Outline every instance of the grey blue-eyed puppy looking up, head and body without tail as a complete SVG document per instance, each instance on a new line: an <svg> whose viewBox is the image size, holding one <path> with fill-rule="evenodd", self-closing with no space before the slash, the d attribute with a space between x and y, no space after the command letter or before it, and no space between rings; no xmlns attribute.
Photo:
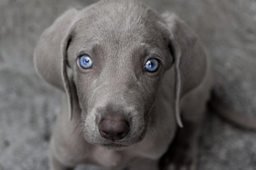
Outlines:
<svg viewBox="0 0 256 170"><path fill-rule="evenodd" d="M197 36L176 15L133 0L70 9L44 31L34 56L42 78L66 93L53 170L156 170L169 146L168 169L195 168L212 76Z"/></svg>

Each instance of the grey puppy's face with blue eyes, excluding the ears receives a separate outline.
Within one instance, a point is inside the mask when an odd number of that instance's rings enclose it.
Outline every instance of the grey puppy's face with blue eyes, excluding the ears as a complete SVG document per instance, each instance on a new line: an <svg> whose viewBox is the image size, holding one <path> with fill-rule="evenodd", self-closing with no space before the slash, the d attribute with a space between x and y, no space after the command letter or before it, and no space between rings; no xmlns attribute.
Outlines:
<svg viewBox="0 0 256 170"><path fill-rule="evenodd" d="M157 15L126 4L86 9L88 15L74 23L68 46L83 134L108 148L143 139L160 79L172 63Z"/></svg>

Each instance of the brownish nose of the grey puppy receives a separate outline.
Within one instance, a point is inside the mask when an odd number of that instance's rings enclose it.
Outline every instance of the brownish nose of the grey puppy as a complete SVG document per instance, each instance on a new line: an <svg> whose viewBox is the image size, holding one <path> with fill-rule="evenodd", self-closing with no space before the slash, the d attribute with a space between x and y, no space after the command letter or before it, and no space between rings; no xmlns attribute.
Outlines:
<svg viewBox="0 0 256 170"><path fill-rule="evenodd" d="M129 123L124 119L103 118L99 124L99 133L105 139L123 139L129 130Z"/></svg>

